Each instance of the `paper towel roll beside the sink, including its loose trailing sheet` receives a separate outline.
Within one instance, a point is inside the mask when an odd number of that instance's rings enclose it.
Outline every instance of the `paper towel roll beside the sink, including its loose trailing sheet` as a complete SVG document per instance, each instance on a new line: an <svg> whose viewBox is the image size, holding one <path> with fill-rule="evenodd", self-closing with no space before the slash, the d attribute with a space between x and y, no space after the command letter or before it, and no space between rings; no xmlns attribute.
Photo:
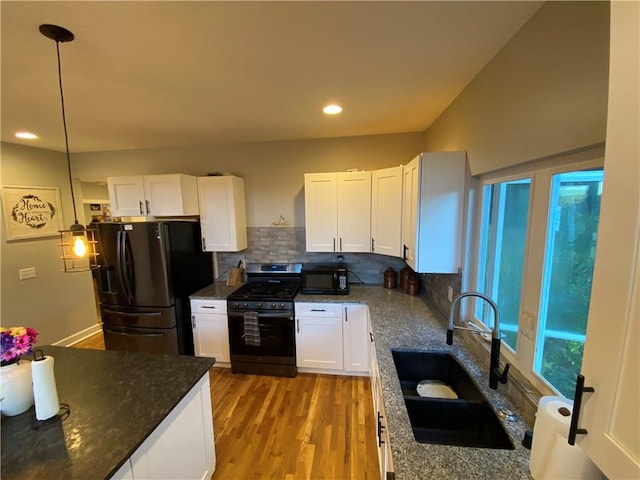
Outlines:
<svg viewBox="0 0 640 480"><path fill-rule="evenodd" d="M533 425L529 471L535 480L604 478L578 445L569 445L573 401L542 397Z"/></svg>

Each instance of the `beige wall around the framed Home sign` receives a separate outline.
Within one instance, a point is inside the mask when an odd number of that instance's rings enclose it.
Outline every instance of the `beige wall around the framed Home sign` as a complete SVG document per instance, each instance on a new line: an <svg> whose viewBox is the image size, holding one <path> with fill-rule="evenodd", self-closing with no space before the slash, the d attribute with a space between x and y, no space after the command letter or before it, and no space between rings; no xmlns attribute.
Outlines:
<svg viewBox="0 0 640 480"><path fill-rule="evenodd" d="M18 145L1 145L2 185L59 187L64 225L73 223L66 156ZM38 344L57 342L97 324L91 273L62 273L60 239L6 240L2 213L2 326L29 326ZM18 270L35 267L37 276L18 279Z"/></svg>

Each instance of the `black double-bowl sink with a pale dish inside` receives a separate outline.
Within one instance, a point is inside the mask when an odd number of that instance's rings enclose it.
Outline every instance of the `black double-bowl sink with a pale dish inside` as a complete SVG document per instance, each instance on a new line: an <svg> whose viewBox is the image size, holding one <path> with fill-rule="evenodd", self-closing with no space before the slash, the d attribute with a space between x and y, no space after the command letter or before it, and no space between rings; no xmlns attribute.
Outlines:
<svg viewBox="0 0 640 480"><path fill-rule="evenodd" d="M391 350L414 438L420 443L513 450L509 435L471 377L449 352ZM457 399L420 397L423 380L449 385Z"/></svg>

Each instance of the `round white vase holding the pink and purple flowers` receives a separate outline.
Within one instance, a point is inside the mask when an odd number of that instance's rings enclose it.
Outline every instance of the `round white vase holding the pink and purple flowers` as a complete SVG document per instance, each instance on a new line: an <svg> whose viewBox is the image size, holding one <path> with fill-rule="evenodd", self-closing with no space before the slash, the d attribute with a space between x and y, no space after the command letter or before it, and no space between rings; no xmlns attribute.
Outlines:
<svg viewBox="0 0 640 480"><path fill-rule="evenodd" d="M33 406L31 365L22 361L0 367L0 411L12 417Z"/></svg>

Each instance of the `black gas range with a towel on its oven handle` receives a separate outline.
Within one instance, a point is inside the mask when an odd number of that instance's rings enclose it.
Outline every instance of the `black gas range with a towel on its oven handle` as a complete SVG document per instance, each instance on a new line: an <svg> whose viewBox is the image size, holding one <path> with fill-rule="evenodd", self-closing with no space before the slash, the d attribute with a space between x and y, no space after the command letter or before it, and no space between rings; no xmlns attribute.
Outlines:
<svg viewBox="0 0 640 480"><path fill-rule="evenodd" d="M295 377L301 271L301 263L247 264L247 282L227 297L233 373Z"/></svg>

